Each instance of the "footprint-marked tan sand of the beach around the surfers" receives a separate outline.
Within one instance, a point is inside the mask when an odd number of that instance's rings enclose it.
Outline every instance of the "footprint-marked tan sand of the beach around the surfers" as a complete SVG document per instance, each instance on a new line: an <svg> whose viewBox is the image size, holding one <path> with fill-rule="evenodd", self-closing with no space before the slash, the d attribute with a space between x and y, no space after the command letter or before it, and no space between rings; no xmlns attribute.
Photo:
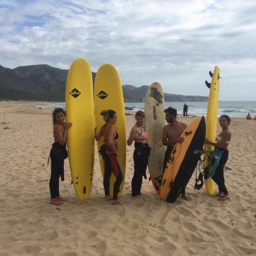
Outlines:
<svg viewBox="0 0 256 256"><path fill-rule="evenodd" d="M194 175L188 202L160 201L148 180L144 196L131 198L134 147L128 146L123 205L114 206L103 200L95 143L91 199L76 199L66 160L60 194L68 202L56 206L49 204L47 167L53 110L34 107L43 104L0 102L1 255L256 255L256 121L231 118L229 201L207 196L205 187L195 191ZM134 123L127 115L127 137Z"/></svg>

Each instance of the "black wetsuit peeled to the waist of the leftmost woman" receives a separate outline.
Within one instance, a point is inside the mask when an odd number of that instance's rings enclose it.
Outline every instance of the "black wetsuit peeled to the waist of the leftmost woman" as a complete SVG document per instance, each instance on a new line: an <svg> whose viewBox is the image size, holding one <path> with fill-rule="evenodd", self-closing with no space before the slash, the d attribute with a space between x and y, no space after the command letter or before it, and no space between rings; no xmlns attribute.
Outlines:
<svg viewBox="0 0 256 256"><path fill-rule="evenodd" d="M66 144L54 142L50 151L51 178L49 182L51 198L59 197L59 177L64 180L64 159L68 157Z"/></svg>

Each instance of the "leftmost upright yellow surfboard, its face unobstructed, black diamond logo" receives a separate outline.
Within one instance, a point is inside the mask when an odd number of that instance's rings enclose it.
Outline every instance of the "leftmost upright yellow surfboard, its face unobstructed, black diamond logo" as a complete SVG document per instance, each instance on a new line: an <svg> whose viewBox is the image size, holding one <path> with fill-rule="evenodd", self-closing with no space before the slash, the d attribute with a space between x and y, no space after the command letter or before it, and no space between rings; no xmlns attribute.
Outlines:
<svg viewBox="0 0 256 256"><path fill-rule="evenodd" d="M90 63L84 58L73 61L66 85L68 153L72 182L78 199L91 196L94 164L94 104Z"/></svg>

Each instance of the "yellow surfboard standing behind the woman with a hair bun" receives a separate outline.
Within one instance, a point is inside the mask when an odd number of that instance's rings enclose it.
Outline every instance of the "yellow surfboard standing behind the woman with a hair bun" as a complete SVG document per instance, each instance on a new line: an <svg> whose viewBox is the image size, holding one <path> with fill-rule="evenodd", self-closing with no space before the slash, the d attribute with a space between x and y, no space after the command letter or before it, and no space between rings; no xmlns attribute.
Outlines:
<svg viewBox="0 0 256 256"><path fill-rule="evenodd" d="M100 115L102 110L114 110L117 114L117 122L115 124L115 130L119 135L117 161L123 174L123 181L118 193L118 196L121 197L126 165L126 124L121 79L119 77L118 71L111 64L104 64L100 66L97 71L94 86L94 105L97 133L99 133L100 127L105 123L103 117ZM103 137L98 141L98 150L102 144ZM102 176L104 177L104 161L100 154L99 160ZM116 177L114 174L112 174L110 179L111 196L113 196L113 185L115 180Z"/></svg>

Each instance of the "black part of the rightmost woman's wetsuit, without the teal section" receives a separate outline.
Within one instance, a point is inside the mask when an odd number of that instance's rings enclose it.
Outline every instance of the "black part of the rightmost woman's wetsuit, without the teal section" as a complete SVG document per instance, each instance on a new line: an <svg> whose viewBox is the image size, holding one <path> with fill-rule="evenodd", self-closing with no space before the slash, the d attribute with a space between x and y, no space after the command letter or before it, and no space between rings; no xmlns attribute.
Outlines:
<svg viewBox="0 0 256 256"><path fill-rule="evenodd" d="M227 188L225 186L225 179L224 179L224 166L228 160L228 150L219 148L219 151L223 150L223 154L221 156L220 162L218 167L216 168L214 176L212 176L212 180L214 180L218 187L219 187L219 192L223 192L224 195L228 194Z"/></svg>

